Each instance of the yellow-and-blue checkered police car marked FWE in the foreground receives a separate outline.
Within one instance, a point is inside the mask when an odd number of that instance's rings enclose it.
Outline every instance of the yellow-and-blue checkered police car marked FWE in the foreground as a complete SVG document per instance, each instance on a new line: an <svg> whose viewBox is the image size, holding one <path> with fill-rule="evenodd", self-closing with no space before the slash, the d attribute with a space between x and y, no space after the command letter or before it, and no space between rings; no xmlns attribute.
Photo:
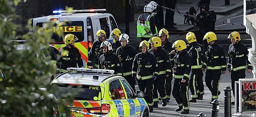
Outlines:
<svg viewBox="0 0 256 117"><path fill-rule="evenodd" d="M133 92L129 83L114 70L67 68L51 85L61 92L78 92L68 105L71 117L149 117L149 107L140 91ZM70 88L71 87L71 88ZM59 110L60 117L68 116Z"/></svg>

